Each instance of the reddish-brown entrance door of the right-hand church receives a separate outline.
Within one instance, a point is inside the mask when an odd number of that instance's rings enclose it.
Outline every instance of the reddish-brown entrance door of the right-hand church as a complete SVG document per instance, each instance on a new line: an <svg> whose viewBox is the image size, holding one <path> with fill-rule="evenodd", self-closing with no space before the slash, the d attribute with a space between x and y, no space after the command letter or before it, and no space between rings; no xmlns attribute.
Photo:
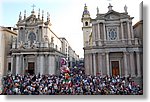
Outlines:
<svg viewBox="0 0 150 102"><path fill-rule="evenodd" d="M111 61L112 75L119 75L119 61Z"/></svg>

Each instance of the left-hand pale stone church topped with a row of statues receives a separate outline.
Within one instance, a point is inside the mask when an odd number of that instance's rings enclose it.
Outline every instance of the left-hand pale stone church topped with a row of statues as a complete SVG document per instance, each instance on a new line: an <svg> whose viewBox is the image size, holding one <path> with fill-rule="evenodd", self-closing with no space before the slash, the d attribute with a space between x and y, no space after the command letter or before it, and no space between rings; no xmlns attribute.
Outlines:
<svg viewBox="0 0 150 102"><path fill-rule="evenodd" d="M47 13L47 21L44 21L44 11L40 15L39 10L36 15L33 8L29 17L26 17L24 11L24 18L20 13L16 25L18 35L12 41L10 55L7 58L10 65L8 67L11 67L10 72L12 74L59 74L61 58L69 57L69 45L66 45L66 41L51 30L49 13ZM79 57L75 55L76 58Z"/></svg>

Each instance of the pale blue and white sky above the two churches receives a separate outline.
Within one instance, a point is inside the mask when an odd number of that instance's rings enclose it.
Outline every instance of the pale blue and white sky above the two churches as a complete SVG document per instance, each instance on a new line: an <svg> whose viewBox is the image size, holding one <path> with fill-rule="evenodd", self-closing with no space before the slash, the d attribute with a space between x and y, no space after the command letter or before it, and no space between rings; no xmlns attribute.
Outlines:
<svg viewBox="0 0 150 102"><path fill-rule="evenodd" d="M19 13L30 16L32 5L36 5L35 12L40 8L44 10L44 19L47 12L50 14L51 29L58 37L65 37L73 50L83 58L83 32L81 17L84 5L88 6L91 18L96 17L96 8L100 13L107 13L111 3L113 10L124 12L124 6L128 7L128 14L133 19L133 25L140 20L139 4L142 0L1 0L0 1L0 26L15 27Z"/></svg>

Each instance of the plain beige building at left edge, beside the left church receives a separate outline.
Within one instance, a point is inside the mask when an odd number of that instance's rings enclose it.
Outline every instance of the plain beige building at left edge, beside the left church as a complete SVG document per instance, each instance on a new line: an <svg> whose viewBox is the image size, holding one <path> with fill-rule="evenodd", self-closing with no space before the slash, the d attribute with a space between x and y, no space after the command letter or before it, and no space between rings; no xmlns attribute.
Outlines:
<svg viewBox="0 0 150 102"><path fill-rule="evenodd" d="M0 27L0 76L11 68L7 64L7 55L11 49L11 40L17 37L17 32L12 27Z"/></svg>

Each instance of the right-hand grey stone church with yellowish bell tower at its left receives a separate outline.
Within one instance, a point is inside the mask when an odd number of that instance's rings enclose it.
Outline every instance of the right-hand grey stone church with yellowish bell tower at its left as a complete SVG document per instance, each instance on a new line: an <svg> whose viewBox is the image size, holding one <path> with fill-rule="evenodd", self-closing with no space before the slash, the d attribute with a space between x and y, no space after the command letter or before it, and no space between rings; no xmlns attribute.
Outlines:
<svg viewBox="0 0 150 102"><path fill-rule="evenodd" d="M127 6L119 13L109 4L108 12L101 14L97 7L95 19L87 6L82 15L84 62L86 74L142 77L143 43L135 34ZM141 27L142 29L142 27Z"/></svg>

